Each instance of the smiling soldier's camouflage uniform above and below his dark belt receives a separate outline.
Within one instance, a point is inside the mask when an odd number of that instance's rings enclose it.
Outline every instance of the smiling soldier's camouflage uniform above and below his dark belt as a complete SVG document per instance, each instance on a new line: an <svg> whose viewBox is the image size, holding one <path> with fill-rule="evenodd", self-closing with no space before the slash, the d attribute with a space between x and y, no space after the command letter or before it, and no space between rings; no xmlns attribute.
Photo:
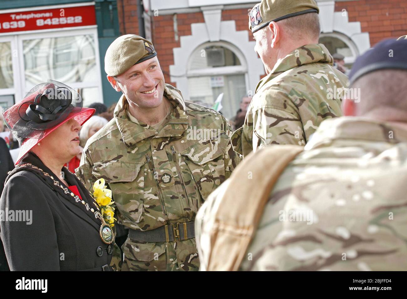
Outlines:
<svg viewBox="0 0 407 299"><path fill-rule="evenodd" d="M240 161L230 142L230 125L220 113L184 102L181 92L168 84L164 95L173 108L160 132L129 120L122 96L114 119L88 140L76 170L90 190L94 181L105 179L117 205L118 223L130 229L147 231L194 220L210 192ZM220 131L212 140L191 140L189 129ZM195 239L143 243L128 238L122 249L125 270L199 267Z"/></svg>

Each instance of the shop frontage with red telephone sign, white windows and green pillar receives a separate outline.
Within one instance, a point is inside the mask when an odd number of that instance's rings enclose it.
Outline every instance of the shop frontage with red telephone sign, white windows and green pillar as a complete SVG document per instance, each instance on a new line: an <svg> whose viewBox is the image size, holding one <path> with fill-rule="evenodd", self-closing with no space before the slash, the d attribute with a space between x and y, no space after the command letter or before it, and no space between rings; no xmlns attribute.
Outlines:
<svg viewBox="0 0 407 299"><path fill-rule="evenodd" d="M119 95L104 71L120 35L116 0L0 0L0 105L53 79L77 89L84 106Z"/></svg>

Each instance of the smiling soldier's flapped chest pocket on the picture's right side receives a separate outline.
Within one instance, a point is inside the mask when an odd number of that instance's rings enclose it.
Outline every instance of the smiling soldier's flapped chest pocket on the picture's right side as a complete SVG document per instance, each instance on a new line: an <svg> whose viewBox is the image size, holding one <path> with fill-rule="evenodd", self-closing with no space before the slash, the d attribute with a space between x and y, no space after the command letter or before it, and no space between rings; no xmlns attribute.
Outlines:
<svg viewBox="0 0 407 299"><path fill-rule="evenodd" d="M223 157L228 143L229 137L221 133L217 139L199 141L181 153L203 200L225 181Z"/></svg>

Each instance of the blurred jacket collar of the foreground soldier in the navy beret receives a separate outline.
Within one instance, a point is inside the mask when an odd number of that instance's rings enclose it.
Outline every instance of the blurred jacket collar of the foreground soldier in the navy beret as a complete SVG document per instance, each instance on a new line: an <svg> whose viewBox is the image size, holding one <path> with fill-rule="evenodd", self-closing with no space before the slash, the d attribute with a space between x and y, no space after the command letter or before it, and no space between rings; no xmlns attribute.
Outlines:
<svg viewBox="0 0 407 299"><path fill-rule="evenodd" d="M350 116L331 118L324 120L319 125L305 149L330 146L339 140L389 144L407 142L407 124Z"/></svg>

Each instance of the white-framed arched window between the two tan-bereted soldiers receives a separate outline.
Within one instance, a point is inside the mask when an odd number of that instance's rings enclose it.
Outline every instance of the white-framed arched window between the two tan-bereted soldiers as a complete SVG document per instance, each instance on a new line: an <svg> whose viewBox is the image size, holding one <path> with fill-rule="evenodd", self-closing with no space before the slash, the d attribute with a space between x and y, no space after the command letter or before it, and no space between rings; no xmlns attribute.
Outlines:
<svg viewBox="0 0 407 299"><path fill-rule="evenodd" d="M223 93L220 111L227 119L234 117L247 94L247 65L240 51L225 42L205 43L187 65L189 100L212 107Z"/></svg>

